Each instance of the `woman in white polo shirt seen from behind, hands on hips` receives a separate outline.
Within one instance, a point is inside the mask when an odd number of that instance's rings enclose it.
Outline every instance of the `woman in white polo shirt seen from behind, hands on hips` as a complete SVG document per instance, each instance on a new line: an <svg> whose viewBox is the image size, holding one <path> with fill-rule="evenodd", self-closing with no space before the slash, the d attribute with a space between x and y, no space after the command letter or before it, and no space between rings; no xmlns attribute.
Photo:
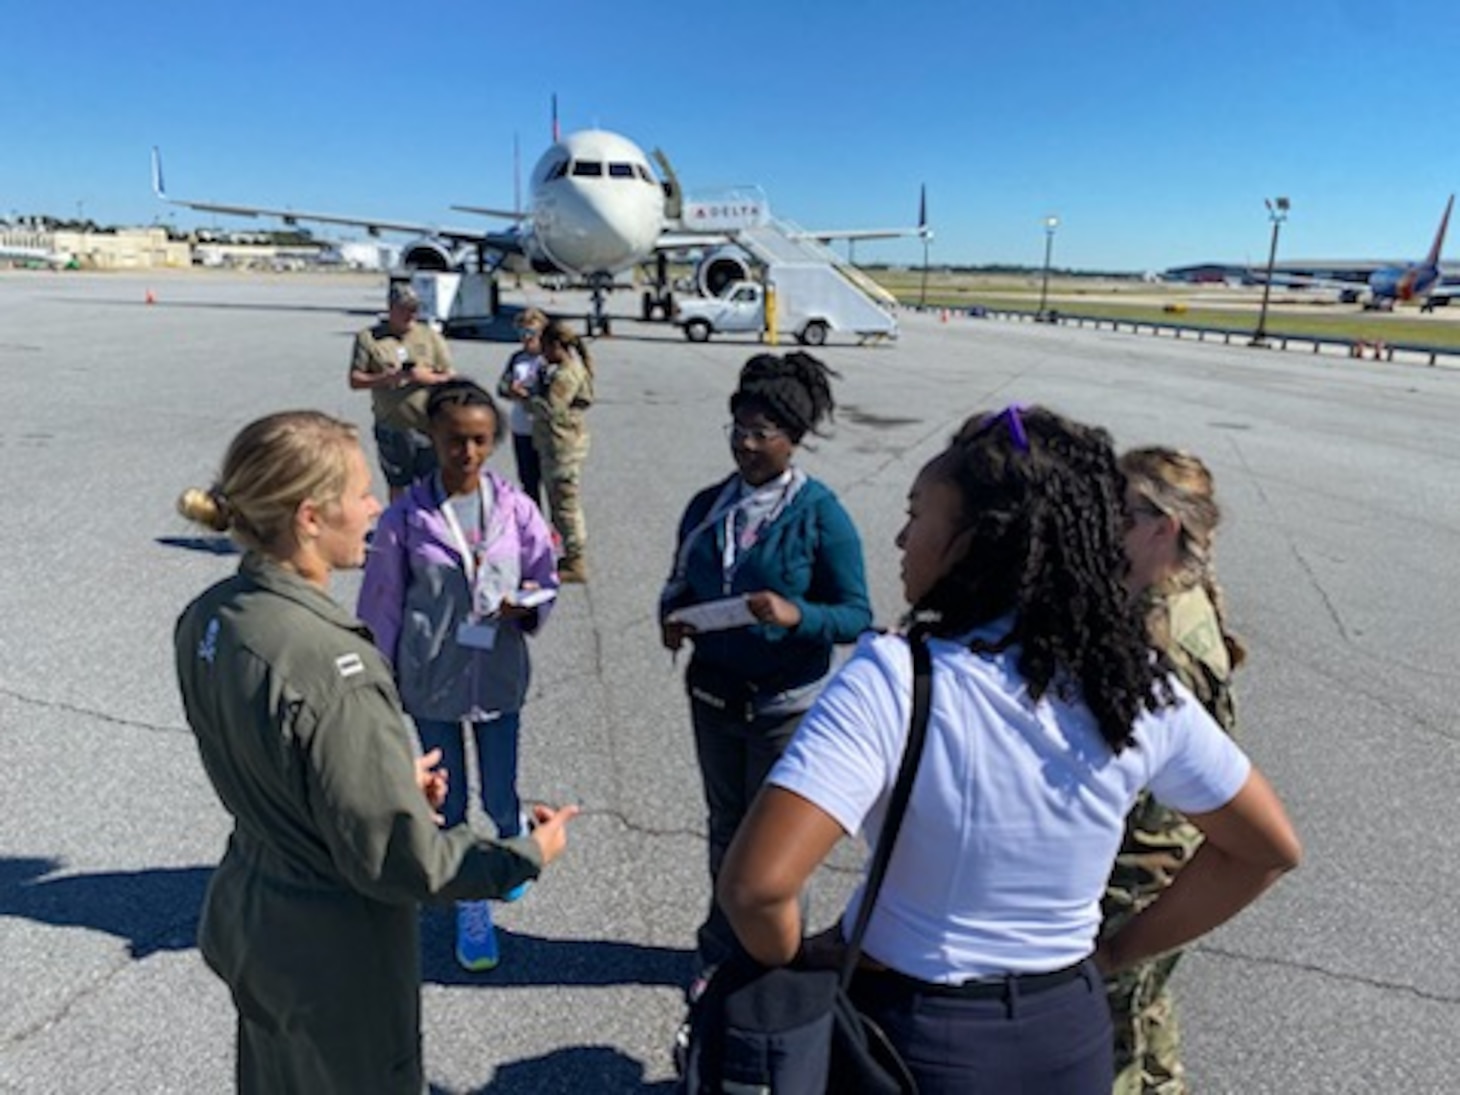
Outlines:
<svg viewBox="0 0 1460 1095"><path fill-rule="evenodd" d="M910 493L898 546L931 718L853 993L923 1095L1108 1095L1101 972L1216 927L1298 863L1272 787L1150 657L1123 584L1123 491L1104 429L1007 407L971 418ZM758 961L800 952L797 894L831 848L877 840L911 694L907 639L864 638L771 772L718 885ZM1096 946L1143 787L1206 842Z"/></svg>

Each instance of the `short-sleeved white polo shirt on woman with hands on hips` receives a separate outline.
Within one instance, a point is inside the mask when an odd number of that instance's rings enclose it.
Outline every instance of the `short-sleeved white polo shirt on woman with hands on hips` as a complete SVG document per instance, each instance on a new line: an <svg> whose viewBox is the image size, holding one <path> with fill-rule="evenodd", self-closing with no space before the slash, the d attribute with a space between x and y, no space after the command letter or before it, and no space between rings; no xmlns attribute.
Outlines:
<svg viewBox="0 0 1460 1095"><path fill-rule="evenodd" d="M923 764L863 943L923 981L1045 972L1095 946L1099 899L1143 787L1178 810L1225 806L1251 764L1184 688L1115 755L1083 702L1031 702L1018 650L934 639ZM876 845L907 743L912 658L866 635L806 714L769 783ZM856 923L853 895L842 933Z"/></svg>

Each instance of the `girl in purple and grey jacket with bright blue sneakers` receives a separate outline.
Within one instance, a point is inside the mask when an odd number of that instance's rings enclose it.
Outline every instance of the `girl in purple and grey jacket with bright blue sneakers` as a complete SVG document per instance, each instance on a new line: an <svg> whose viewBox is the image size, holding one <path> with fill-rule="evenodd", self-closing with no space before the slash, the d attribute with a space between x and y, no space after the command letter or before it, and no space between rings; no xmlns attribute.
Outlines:
<svg viewBox="0 0 1460 1095"><path fill-rule="evenodd" d="M552 536L537 507L486 470L504 423L482 387L439 384L426 413L439 470L416 480L381 517L359 618L394 669L422 746L441 749L445 825L466 821L470 729L482 807L505 840L524 828L517 737L530 676L527 635L552 603L533 602L558 588ZM496 965L488 902L457 902L456 955L466 969Z"/></svg>

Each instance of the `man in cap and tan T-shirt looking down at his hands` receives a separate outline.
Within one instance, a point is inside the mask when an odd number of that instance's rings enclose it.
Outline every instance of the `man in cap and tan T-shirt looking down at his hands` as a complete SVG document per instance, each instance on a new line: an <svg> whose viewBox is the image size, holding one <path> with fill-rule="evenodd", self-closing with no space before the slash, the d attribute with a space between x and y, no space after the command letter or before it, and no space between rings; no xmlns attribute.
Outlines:
<svg viewBox="0 0 1460 1095"><path fill-rule="evenodd" d="M381 323L355 336L350 387L369 391L380 470L396 501L406 488L437 470L426 431L426 396L453 375L451 352L434 327L416 320L420 298L404 282L390 286Z"/></svg>

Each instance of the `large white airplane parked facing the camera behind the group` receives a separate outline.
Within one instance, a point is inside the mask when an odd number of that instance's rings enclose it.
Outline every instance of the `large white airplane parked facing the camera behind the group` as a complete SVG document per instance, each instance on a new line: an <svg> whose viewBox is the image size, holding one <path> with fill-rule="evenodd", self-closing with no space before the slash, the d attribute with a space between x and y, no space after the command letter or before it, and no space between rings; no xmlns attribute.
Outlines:
<svg viewBox="0 0 1460 1095"><path fill-rule="evenodd" d="M502 266L514 270L531 269L539 273L561 272L585 282L593 291L593 314L588 333L609 331L603 312L603 295L613 286L613 277L651 258L658 260L654 292L644 295L644 318L661 311L667 318L673 301L667 288L666 260L670 251L707 248L731 242L726 231L699 231L682 223L679 182L667 159L656 152L664 172L661 181L650 166L648 156L628 137L607 130L580 130L555 140L533 168L529 207L526 212L486 209L482 206L453 206L464 213L482 213L512 219L517 223L501 232L442 228L419 222L377 220L310 213L295 209L190 201L168 197L162 182L162 156L152 149L152 188L159 199L177 206L234 216L276 216L286 225L312 220L327 225L364 228L371 235L403 232L418 238L402 248L400 264L409 270L457 270L473 256L482 270ZM891 238L898 235L927 237L926 225L918 229L863 229L847 232L806 232L813 239ZM701 266L714 266L715 280L736 276L726 264L739 263L745 276L745 256L736 258L724 248L705 254ZM701 277L701 285L705 279Z"/></svg>

